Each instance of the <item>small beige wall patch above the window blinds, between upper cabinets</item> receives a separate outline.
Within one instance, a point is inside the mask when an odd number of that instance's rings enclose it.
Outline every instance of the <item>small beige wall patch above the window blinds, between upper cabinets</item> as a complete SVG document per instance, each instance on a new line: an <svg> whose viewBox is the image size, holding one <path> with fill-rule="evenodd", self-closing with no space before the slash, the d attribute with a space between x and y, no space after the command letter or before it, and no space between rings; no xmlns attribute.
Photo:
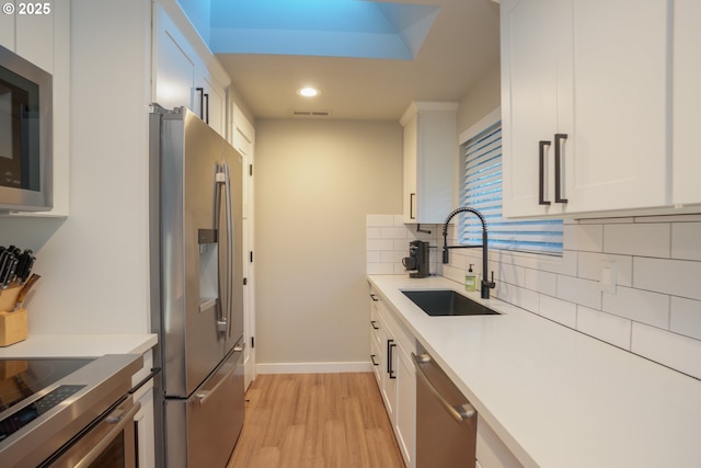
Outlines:
<svg viewBox="0 0 701 468"><path fill-rule="evenodd" d="M501 93L501 73L497 62L460 101L458 135L498 107L502 102Z"/></svg>

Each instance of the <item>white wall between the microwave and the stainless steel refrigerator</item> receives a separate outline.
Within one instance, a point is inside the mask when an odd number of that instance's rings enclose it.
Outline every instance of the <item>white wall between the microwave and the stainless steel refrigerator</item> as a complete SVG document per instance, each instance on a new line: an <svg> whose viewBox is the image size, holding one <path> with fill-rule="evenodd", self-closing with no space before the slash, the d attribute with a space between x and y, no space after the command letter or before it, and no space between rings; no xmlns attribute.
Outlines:
<svg viewBox="0 0 701 468"><path fill-rule="evenodd" d="M149 330L150 8L71 1L70 215L0 219L37 254L30 334Z"/></svg>

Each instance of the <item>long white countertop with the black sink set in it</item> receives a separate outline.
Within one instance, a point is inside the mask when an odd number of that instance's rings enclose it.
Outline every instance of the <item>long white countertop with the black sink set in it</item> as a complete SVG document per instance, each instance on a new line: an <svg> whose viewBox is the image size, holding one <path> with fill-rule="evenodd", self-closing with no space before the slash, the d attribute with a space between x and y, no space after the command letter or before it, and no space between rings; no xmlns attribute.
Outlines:
<svg viewBox="0 0 701 468"><path fill-rule="evenodd" d="M443 277L369 276L525 467L701 466L701 381ZM401 289L501 316L428 317Z"/></svg>

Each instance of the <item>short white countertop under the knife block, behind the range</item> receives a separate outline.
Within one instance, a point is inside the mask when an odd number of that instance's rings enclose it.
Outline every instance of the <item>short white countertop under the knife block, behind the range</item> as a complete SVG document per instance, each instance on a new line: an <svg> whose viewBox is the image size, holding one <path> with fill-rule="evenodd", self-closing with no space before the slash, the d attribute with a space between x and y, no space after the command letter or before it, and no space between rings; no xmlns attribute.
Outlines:
<svg viewBox="0 0 701 468"><path fill-rule="evenodd" d="M30 334L26 340L0 347L0 358L97 357L104 354L143 354L156 346L148 334Z"/></svg>

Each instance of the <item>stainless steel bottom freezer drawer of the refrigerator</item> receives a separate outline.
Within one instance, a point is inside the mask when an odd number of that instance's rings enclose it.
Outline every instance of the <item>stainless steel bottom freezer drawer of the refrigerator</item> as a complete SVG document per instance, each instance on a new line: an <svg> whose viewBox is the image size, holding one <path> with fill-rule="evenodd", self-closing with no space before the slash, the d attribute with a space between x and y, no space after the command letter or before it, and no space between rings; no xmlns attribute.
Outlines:
<svg viewBox="0 0 701 468"><path fill-rule="evenodd" d="M227 465L243 427L242 351L234 346L189 399L165 401L169 468Z"/></svg>

